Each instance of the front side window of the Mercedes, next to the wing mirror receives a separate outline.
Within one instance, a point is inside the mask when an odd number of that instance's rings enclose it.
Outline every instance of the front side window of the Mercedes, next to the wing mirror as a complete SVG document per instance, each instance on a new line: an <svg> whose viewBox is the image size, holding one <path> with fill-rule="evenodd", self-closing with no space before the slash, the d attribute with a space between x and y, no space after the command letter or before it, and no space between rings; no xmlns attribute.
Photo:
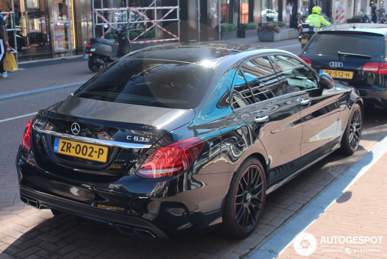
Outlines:
<svg viewBox="0 0 387 259"><path fill-rule="evenodd" d="M289 93L317 88L317 80L309 68L289 56L274 56L280 69L281 82Z"/></svg>

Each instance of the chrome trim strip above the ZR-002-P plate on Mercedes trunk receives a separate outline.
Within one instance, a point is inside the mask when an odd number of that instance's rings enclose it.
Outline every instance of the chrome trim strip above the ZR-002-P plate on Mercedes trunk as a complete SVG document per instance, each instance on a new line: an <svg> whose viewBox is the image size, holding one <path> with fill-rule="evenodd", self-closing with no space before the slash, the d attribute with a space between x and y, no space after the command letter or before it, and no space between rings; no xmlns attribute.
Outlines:
<svg viewBox="0 0 387 259"><path fill-rule="evenodd" d="M56 131L52 131L52 130L42 129L42 128L39 128L35 125L33 125L32 127L35 131L38 131L39 133L57 136L60 138L67 138L70 140L77 140L77 141L92 143L92 144L96 144L96 145L105 145L105 146L110 146L110 147L121 147L121 148L150 148L150 147L152 147L152 145L125 143L125 142L118 142L118 141L111 141L111 140L99 140L96 138L86 138L86 137L82 137L82 136L74 136L74 135L60 133L60 132L56 132Z"/></svg>

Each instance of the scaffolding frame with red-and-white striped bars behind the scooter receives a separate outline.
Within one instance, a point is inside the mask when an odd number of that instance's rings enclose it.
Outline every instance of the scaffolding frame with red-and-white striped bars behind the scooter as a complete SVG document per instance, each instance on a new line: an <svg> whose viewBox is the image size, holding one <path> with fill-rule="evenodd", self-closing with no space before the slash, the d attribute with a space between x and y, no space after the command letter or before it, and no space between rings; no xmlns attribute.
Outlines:
<svg viewBox="0 0 387 259"><path fill-rule="evenodd" d="M128 1L126 1L128 5ZM168 10L169 9L169 10ZM168 10L168 12L163 15L163 17L157 19L157 10ZM174 10L176 10L176 19L166 19L166 17L171 14ZM148 11L153 11L153 17L154 19L151 20L147 17L146 13ZM114 15L118 12L118 15L114 17ZM117 26L125 25L129 26L128 31L139 31L144 30L142 33L140 33L135 39L130 40L130 43L157 43L157 42L166 42L166 41L178 41L180 43L180 0L177 0L176 6L157 6L156 0L154 0L149 6L147 7L120 7L120 8L102 8L94 9L94 1L92 1L92 35L93 37L96 37L96 26L102 26L102 32L104 37L111 29L116 29ZM114 17L115 22L109 21L104 15ZM97 22L98 19L101 19L102 22ZM111 19L112 20L112 19ZM122 21L120 21L122 20ZM177 35L166 30L163 28L159 23L163 21L176 21L178 23L177 25ZM152 25L149 26L147 29L145 28L136 28L136 24L141 23L151 23ZM155 30L155 40L150 41L136 41L139 39L140 36L142 36L147 31L150 31L151 29ZM105 31L105 29L107 29ZM166 39L157 39L157 29L160 29L167 34L171 35L171 38Z"/></svg>

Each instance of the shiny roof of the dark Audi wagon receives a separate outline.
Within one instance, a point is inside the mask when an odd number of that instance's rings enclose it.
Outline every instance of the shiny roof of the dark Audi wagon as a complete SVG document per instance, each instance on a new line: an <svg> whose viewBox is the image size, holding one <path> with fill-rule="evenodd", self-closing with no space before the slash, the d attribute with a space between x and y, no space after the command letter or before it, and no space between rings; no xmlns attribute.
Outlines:
<svg viewBox="0 0 387 259"><path fill-rule="evenodd" d="M370 32L375 34L385 35L387 34L386 24L371 24L371 23L346 23L346 24L332 24L322 27L321 32L326 31L357 31L357 32Z"/></svg>

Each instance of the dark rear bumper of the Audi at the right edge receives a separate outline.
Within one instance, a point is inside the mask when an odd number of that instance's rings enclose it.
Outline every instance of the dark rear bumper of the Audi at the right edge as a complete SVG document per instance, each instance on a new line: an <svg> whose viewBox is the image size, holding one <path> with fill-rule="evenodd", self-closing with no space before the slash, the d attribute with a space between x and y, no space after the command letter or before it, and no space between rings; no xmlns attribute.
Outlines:
<svg viewBox="0 0 387 259"><path fill-rule="evenodd" d="M387 89L378 86L355 86L361 98L363 98L365 107L368 108L387 108Z"/></svg>

